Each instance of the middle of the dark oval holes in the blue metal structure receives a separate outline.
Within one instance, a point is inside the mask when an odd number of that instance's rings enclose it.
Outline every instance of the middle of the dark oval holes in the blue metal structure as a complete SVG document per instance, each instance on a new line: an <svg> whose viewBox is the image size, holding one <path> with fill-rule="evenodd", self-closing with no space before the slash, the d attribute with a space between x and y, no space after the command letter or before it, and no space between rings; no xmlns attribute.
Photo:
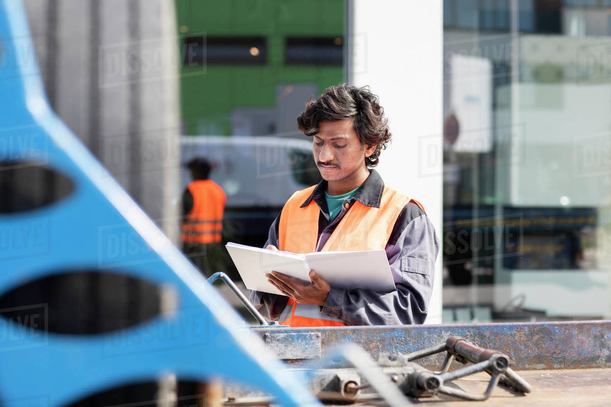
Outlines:
<svg viewBox="0 0 611 407"><path fill-rule="evenodd" d="M0 315L29 329L90 335L122 330L161 313L161 287L118 272L54 273L6 292Z"/></svg>

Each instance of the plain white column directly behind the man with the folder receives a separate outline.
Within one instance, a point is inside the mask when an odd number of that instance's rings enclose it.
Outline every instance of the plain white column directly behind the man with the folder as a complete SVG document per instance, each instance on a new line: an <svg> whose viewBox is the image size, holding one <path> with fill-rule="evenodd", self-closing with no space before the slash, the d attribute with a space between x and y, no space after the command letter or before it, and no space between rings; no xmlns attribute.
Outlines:
<svg viewBox="0 0 611 407"><path fill-rule="evenodd" d="M384 181L419 200L442 239L442 0L349 0L346 71L370 85L393 142L380 156ZM442 253L426 323L441 323Z"/></svg>

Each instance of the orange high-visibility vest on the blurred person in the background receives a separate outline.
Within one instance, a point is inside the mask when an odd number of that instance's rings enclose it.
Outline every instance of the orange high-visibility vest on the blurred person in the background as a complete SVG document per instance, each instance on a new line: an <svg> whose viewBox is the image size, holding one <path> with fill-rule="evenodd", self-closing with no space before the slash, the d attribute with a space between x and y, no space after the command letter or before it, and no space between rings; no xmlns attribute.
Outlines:
<svg viewBox="0 0 611 407"><path fill-rule="evenodd" d="M193 181L188 189L193 208L183 222L180 239L185 243L220 243L225 192L210 179Z"/></svg>

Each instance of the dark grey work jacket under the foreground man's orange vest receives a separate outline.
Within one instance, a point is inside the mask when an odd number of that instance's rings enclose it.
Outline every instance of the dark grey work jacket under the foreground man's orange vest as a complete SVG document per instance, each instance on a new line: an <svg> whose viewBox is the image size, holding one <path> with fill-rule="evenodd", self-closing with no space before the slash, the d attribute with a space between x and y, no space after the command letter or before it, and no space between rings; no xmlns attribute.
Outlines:
<svg viewBox="0 0 611 407"><path fill-rule="evenodd" d="M354 198L343 203L342 211L329 222L329 211L324 199L326 181L321 181L304 201L307 206L314 200L320 208L318 218L318 242L320 251L337 224L355 201L379 207L384 181L377 171L371 170L362 189ZM348 209L345 204L348 203ZM278 247L280 215L269 228L267 245ZM423 323L433 290L435 259L439 253L439 239L433 224L425 212L414 202L401 211L386 244L386 256L395 286L393 292L376 292L367 289L340 289L331 287L329 296L320 312L338 318L348 325L401 325ZM288 297L252 291L251 302L269 320L276 320L284 311Z"/></svg>

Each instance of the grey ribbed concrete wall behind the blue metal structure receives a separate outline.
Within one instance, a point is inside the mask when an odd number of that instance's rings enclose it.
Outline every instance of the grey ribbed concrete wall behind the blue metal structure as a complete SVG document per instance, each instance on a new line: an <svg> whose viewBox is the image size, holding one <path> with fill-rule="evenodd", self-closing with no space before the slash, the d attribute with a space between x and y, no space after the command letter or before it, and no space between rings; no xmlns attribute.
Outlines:
<svg viewBox="0 0 611 407"><path fill-rule="evenodd" d="M180 113L172 0L25 0L49 101L177 235Z"/></svg>

